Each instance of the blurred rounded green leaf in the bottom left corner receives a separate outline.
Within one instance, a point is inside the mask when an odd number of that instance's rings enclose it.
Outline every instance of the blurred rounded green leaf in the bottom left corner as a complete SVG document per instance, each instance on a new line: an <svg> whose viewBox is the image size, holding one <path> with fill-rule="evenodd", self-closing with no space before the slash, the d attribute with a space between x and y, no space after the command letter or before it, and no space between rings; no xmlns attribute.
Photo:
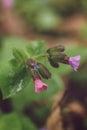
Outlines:
<svg viewBox="0 0 87 130"><path fill-rule="evenodd" d="M13 112L0 118L0 130L37 130L37 128L29 118Z"/></svg>

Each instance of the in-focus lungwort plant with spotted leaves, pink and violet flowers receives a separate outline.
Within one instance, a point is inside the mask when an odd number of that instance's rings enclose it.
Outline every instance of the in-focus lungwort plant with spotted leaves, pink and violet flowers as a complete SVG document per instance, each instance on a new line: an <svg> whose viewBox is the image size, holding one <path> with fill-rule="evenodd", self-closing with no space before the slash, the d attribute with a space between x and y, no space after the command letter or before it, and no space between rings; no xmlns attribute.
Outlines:
<svg viewBox="0 0 87 130"><path fill-rule="evenodd" d="M70 65L75 71L80 64L80 55L68 56L64 52L63 45L48 49L43 41L33 41L23 45L20 43L19 47L16 46L16 41L14 45L10 43L6 45L8 50L10 48L7 54L6 50L4 52L8 58L0 64L0 88L4 98L15 95L25 87L34 88L34 93L45 93L47 97L58 90L54 87L51 78L58 80L60 63ZM62 69L61 65L60 69Z"/></svg>

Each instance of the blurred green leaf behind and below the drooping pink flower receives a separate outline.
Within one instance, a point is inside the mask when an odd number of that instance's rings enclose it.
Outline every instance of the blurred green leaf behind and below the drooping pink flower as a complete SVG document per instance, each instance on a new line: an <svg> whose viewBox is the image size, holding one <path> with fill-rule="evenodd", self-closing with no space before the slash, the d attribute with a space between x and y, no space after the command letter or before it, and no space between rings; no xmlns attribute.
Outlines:
<svg viewBox="0 0 87 130"><path fill-rule="evenodd" d="M13 107L16 110L22 111L30 102L37 100L47 100L64 87L62 79L55 74L50 80L43 80L43 82L47 83L48 85L47 91L36 94L34 90L34 83L31 80L30 84L28 84L28 87L12 98Z"/></svg>

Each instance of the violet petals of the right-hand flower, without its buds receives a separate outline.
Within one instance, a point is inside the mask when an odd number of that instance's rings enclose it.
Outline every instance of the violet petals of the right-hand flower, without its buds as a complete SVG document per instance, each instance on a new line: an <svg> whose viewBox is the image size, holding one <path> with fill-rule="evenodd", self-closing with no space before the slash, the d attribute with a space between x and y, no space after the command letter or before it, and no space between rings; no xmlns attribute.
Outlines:
<svg viewBox="0 0 87 130"><path fill-rule="evenodd" d="M69 57L68 59L68 64L75 70L77 71L79 65L80 65L80 55L74 56L74 57Z"/></svg>

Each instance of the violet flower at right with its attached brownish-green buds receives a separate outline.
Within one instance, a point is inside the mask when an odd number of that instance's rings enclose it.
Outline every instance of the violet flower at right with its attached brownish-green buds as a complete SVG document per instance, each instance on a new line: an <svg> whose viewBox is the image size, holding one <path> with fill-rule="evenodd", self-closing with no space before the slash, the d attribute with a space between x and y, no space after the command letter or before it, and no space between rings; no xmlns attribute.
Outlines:
<svg viewBox="0 0 87 130"><path fill-rule="evenodd" d="M59 67L59 63L68 64L74 71L77 71L80 65L80 55L69 57L64 53L64 50L65 48L62 45L48 49L47 53L50 64L55 68Z"/></svg>

